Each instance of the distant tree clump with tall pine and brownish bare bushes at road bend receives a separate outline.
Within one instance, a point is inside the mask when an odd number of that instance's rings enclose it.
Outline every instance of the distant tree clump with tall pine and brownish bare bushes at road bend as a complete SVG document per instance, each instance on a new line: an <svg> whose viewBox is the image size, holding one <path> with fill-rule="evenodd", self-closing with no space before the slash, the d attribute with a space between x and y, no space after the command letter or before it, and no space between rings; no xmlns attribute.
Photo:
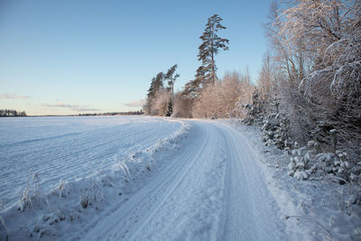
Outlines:
<svg viewBox="0 0 361 241"><path fill-rule="evenodd" d="M175 72L177 64L165 74L158 73L148 89L144 114L206 118L244 116L245 111L240 107L251 100L254 90L248 71L245 74L227 73L223 79L217 76L216 55L218 51L229 49L229 40L218 35L219 31L226 29L221 24L222 20L218 14L209 17L199 37L202 41L198 54L201 64L196 70L195 79L174 93L174 82L180 77ZM167 85L164 86L164 83Z"/></svg>

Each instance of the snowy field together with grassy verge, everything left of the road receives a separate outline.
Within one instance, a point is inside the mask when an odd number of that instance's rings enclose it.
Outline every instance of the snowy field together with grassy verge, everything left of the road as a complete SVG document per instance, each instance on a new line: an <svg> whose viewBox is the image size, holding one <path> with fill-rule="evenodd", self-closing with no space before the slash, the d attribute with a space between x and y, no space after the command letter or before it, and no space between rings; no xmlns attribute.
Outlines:
<svg viewBox="0 0 361 241"><path fill-rule="evenodd" d="M188 128L137 116L13 120L0 120L9 134L0 145L1 240L79 230L94 210L131 192L129 182L153 168L154 153L176 148Z"/></svg>

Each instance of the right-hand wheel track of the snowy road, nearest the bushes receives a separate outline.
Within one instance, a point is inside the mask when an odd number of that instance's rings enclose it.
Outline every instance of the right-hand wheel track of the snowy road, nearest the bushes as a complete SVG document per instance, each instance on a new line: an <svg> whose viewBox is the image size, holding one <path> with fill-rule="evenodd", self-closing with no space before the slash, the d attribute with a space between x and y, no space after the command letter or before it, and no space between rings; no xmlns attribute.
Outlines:
<svg viewBox="0 0 361 241"><path fill-rule="evenodd" d="M217 125L224 132L228 161L218 240L285 240L280 211L256 165L255 150L229 126Z"/></svg>

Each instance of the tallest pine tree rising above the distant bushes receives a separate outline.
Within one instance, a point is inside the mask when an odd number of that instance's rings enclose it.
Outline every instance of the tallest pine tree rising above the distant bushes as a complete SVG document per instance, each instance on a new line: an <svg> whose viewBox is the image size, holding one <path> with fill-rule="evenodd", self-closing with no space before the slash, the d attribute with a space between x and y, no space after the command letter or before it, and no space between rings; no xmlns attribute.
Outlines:
<svg viewBox="0 0 361 241"><path fill-rule="evenodd" d="M215 56L218 54L219 49L228 50L227 44L229 40L220 38L217 34L219 30L226 29L225 26L220 24L222 20L218 14L209 17L203 35L199 37L202 44L199 46L198 60L202 61L202 66L197 70L196 79L199 79L199 82L203 85L216 81Z"/></svg>

